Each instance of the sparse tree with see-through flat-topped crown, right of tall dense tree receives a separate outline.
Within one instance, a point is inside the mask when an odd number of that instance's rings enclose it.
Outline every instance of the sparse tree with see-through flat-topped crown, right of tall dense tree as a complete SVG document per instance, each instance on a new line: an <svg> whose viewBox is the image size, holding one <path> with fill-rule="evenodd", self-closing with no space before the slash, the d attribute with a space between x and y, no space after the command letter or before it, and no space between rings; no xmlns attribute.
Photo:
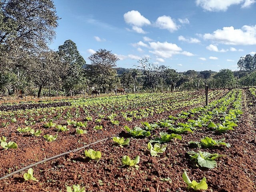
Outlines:
<svg viewBox="0 0 256 192"><path fill-rule="evenodd" d="M116 82L115 75L116 62L119 60L115 54L106 49L99 49L89 58L91 64L86 66L86 73L91 79L92 84L97 84L106 92L107 88Z"/></svg>

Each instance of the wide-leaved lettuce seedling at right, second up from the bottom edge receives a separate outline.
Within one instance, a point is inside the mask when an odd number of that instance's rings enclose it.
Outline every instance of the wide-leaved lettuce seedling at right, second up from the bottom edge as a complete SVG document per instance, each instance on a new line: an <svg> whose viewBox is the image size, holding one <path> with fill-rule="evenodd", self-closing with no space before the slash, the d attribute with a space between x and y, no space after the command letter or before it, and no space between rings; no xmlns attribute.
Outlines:
<svg viewBox="0 0 256 192"><path fill-rule="evenodd" d="M208 152L199 151L199 153L194 151L187 152L192 159L196 159L198 164L201 167L214 168L217 166L216 158L222 157L223 155L219 154L210 154Z"/></svg>

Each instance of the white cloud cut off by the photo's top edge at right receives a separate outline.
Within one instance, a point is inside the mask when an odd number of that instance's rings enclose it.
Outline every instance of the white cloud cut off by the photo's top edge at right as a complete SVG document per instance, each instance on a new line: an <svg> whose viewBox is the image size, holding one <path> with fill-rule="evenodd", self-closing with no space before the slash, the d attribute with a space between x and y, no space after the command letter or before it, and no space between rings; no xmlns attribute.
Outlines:
<svg viewBox="0 0 256 192"><path fill-rule="evenodd" d="M249 7L255 0L196 0L196 5L206 11L226 11L232 5L242 4L241 7Z"/></svg>

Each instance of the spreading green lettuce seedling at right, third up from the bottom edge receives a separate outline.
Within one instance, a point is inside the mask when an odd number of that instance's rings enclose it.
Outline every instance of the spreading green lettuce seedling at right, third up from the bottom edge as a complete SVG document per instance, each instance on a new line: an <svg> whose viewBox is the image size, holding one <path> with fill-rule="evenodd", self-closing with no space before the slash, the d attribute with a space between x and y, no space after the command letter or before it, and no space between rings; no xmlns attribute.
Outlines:
<svg viewBox="0 0 256 192"><path fill-rule="evenodd" d="M201 139L201 142L196 142L196 141L190 141L188 144L196 144L198 145L199 148L204 147L204 148L210 148L214 146L219 146L219 145L224 145L226 147L230 147L229 143L223 142L225 138L222 138L220 140L214 140L210 137L205 137L204 139Z"/></svg>

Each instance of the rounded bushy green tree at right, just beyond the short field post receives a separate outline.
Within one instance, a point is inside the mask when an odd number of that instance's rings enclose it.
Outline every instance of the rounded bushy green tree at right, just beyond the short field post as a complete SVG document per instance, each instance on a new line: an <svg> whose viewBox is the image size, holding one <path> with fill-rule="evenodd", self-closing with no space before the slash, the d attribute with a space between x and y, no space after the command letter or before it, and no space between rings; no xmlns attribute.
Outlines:
<svg viewBox="0 0 256 192"><path fill-rule="evenodd" d="M222 69L214 75L216 87L232 87L235 83L234 74L230 69Z"/></svg>

